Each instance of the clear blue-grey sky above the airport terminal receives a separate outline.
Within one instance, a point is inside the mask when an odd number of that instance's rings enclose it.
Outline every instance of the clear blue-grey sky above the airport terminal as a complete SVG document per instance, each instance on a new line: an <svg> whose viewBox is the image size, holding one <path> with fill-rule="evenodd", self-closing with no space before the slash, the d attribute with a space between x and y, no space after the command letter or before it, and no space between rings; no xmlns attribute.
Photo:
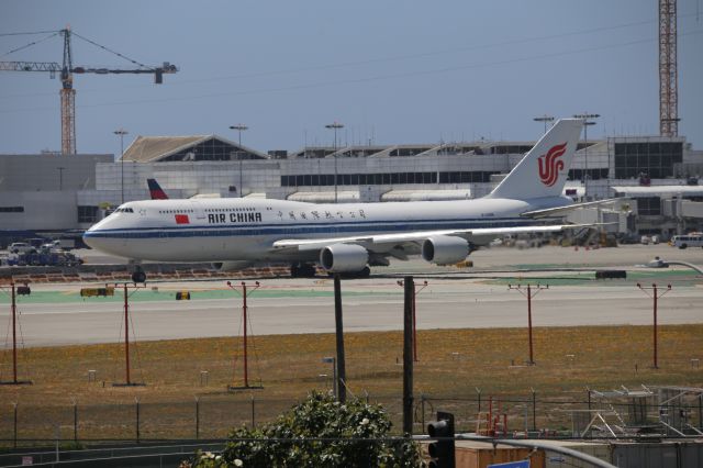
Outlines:
<svg viewBox="0 0 703 468"><path fill-rule="evenodd" d="M679 135L703 149L703 0L678 1ZM137 135L267 152L339 144L531 141L538 115L598 113L589 136L659 131L655 0L0 2L0 62L179 71L76 75L79 153ZM44 32L42 34L13 33ZM80 35L80 37L77 37ZM35 42L35 45L23 47ZM13 52L19 49L16 52ZM58 77L0 71L0 154L60 149Z"/></svg>

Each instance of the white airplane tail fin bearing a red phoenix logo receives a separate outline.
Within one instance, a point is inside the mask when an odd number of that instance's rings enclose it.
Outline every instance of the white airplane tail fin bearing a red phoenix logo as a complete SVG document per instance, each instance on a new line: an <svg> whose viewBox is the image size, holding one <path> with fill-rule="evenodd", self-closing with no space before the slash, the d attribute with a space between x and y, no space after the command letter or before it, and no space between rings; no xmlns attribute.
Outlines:
<svg viewBox="0 0 703 468"><path fill-rule="evenodd" d="M488 198L561 196L582 126L581 119L557 121Z"/></svg>

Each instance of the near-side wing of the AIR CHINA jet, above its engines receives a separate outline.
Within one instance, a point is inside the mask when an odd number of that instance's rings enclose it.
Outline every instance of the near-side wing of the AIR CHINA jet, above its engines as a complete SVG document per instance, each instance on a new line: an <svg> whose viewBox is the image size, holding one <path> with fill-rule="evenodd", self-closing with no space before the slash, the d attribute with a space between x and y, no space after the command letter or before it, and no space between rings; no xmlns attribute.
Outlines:
<svg viewBox="0 0 703 468"><path fill-rule="evenodd" d="M386 252L394 246L415 243L420 244L426 238L435 236L457 236L471 241L475 237L501 236L521 233L549 233L565 230L580 230L593 227L595 224L554 224L545 226L514 226L514 227L478 227L471 230L436 230L414 231L397 234L376 234L349 237L327 237L314 239L281 239L276 241L272 250L319 250L333 244L357 244L371 252Z"/></svg>

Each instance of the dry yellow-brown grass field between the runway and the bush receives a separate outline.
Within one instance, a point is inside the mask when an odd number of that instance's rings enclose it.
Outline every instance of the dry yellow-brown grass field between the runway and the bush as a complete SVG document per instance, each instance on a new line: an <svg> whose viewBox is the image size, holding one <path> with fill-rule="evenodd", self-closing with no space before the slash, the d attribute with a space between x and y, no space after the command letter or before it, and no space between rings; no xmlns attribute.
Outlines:
<svg viewBox="0 0 703 468"><path fill-rule="evenodd" d="M53 438L57 428L62 438L72 438L74 428L78 438L134 437L136 400L141 437L221 437L233 425L250 424L253 414L256 423L271 420L310 390L331 386L332 366L322 358L335 355L334 335L257 336L253 344L249 383L260 382L264 389L236 392L226 387L243 383L239 338L132 345L131 380L146 383L140 387L112 386L125 381L120 344L22 349L18 377L33 385L0 387L0 438L13 437L14 403L20 438ZM537 364L524 366L525 330L419 331L414 392L416 401L422 394L428 405L417 416L416 430L422 431L421 416L443 405L460 413L460 427L471 428L477 389L483 399L504 401L532 399L534 389L539 401L551 401L539 404L536 426L568 427L559 402L583 402L587 388L703 387L703 368L692 361L703 358L703 325L660 326L658 369L651 368L651 346L648 326L535 328ZM348 333L345 347L349 391L384 403L399 422L402 334ZM11 353L2 354L1 364L1 379L11 380ZM96 371L94 381L88 370ZM515 425L527 424L526 416L521 420L525 404L513 401L504 408L517 419Z"/></svg>

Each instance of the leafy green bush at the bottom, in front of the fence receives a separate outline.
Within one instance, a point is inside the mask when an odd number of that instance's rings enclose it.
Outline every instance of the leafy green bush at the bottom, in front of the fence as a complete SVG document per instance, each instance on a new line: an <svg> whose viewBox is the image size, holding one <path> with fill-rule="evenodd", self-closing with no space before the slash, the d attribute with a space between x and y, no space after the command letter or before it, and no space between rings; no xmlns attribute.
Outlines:
<svg viewBox="0 0 703 468"><path fill-rule="evenodd" d="M230 434L222 458L197 457L197 467L420 467L417 444L390 438L383 409L355 399L341 404L311 393L260 428Z"/></svg>

